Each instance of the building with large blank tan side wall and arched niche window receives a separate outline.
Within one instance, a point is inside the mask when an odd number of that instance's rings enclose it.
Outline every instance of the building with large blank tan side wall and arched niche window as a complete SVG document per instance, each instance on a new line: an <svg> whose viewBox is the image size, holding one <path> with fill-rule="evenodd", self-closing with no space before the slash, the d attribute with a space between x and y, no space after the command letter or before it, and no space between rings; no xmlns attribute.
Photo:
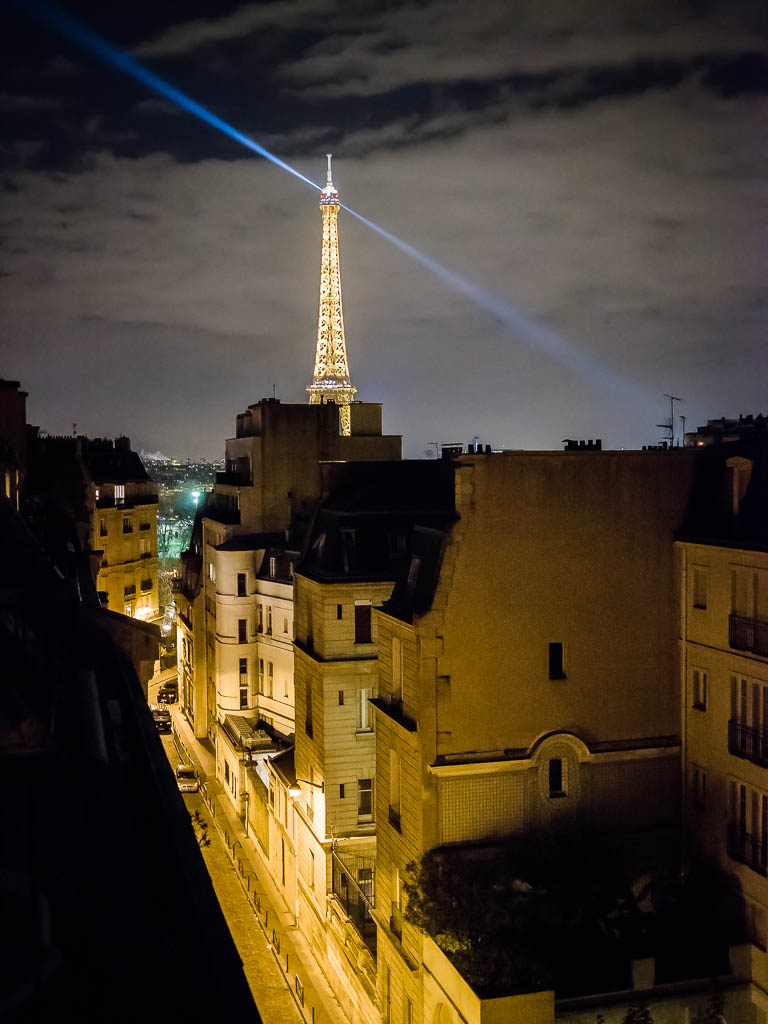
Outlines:
<svg viewBox="0 0 768 1024"><path fill-rule="evenodd" d="M674 843L673 536L695 460L683 450L464 456L456 522L415 534L375 612L374 916L387 1024L460 1019L451 985L435 982L430 940L404 919L402 880L425 851L579 816L638 848Z"/></svg>

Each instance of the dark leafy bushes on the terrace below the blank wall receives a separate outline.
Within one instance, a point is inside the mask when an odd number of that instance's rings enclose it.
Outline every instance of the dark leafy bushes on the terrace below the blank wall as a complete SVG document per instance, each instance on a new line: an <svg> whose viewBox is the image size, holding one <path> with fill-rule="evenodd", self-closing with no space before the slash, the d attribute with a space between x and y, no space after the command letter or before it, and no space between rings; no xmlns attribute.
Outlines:
<svg viewBox="0 0 768 1024"><path fill-rule="evenodd" d="M484 996L631 987L632 958L653 954L657 981L727 970L728 941L740 937L727 877L705 862L650 878L632 849L572 822L494 847L437 848L410 865L406 920Z"/></svg>

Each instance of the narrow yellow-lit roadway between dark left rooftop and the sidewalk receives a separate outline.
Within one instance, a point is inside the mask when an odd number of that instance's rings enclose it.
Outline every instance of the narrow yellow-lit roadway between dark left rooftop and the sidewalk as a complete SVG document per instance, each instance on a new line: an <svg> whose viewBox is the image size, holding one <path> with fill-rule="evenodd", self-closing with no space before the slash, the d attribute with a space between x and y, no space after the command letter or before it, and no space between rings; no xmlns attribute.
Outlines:
<svg viewBox="0 0 768 1024"><path fill-rule="evenodd" d="M161 737L172 768L181 758L170 735ZM202 848L221 910L243 961L243 968L264 1024L301 1024L302 1017L285 978L274 962L256 914L243 891L221 838L213 826L208 808L199 793L185 794L184 803L190 815L199 812L208 823L210 846ZM193 971L197 969L190 962Z"/></svg>

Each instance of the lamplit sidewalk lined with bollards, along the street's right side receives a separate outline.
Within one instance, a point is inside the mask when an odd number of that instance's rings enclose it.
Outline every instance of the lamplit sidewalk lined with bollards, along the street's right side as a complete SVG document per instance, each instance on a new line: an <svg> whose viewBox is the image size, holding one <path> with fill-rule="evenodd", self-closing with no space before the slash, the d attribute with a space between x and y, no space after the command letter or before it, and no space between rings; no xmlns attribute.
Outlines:
<svg viewBox="0 0 768 1024"><path fill-rule="evenodd" d="M247 837L243 822L216 781L216 760L196 739L178 705L171 706L173 738L183 756L198 766L201 795L224 841L241 885L253 907L256 927L271 944L272 954L307 1024L349 1024L309 943L272 881L261 848Z"/></svg>

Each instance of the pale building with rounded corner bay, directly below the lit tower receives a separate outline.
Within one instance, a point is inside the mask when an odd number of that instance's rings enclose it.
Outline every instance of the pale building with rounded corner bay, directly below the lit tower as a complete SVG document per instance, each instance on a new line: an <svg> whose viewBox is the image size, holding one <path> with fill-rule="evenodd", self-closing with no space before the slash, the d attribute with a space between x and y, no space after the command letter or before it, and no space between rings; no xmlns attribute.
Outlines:
<svg viewBox="0 0 768 1024"><path fill-rule="evenodd" d="M250 761L225 719L258 722L278 740L293 735L293 565L324 492L323 466L399 459L400 438L381 433L380 406L354 403L351 429L339 433L338 409L330 404L265 398L250 406L237 417L226 468L182 555L182 709L196 734L220 751L220 781L241 814L246 779L227 766L239 751L242 764ZM184 652L191 656L184 660ZM263 820L265 793L254 790L254 822Z"/></svg>

